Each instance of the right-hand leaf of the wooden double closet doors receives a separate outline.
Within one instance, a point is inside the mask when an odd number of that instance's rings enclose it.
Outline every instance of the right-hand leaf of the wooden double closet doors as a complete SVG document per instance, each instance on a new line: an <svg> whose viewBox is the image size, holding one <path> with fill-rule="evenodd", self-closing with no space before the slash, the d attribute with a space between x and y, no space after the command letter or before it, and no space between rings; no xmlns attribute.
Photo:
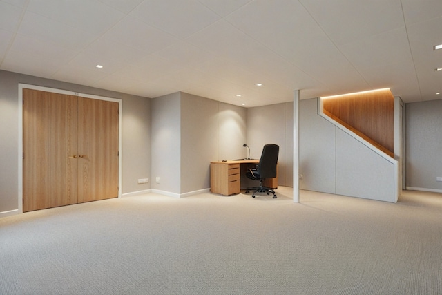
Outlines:
<svg viewBox="0 0 442 295"><path fill-rule="evenodd" d="M118 196L118 104L78 97L78 202Z"/></svg>

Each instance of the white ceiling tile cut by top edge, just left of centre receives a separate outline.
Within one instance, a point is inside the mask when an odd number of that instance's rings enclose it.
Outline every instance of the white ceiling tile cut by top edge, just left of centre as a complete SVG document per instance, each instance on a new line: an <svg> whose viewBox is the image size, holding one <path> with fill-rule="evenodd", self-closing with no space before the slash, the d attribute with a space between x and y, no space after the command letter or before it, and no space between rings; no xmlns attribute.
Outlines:
<svg viewBox="0 0 442 295"><path fill-rule="evenodd" d="M185 38L220 16L196 0L145 0L131 15L178 38Z"/></svg>

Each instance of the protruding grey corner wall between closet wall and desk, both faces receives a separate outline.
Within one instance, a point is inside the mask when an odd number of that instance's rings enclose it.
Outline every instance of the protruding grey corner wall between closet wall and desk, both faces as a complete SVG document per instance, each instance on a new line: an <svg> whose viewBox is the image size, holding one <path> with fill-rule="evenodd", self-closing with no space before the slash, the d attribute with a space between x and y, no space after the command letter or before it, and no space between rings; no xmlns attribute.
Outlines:
<svg viewBox="0 0 442 295"><path fill-rule="evenodd" d="M209 190L210 162L244 158L246 132L246 108L188 93L153 99L152 189L175 198Z"/></svg>

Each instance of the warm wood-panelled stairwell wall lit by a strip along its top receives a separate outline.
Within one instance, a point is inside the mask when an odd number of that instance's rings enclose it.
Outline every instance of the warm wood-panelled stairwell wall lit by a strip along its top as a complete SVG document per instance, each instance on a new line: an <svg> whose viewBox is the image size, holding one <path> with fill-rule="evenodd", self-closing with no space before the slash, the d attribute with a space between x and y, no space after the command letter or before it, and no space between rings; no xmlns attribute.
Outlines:
<svg viewBox="0 0 442 295"><path fill-rule="evenodd" d="M394 157L394 96L390 89L323 97L323 112Z"/></svg>

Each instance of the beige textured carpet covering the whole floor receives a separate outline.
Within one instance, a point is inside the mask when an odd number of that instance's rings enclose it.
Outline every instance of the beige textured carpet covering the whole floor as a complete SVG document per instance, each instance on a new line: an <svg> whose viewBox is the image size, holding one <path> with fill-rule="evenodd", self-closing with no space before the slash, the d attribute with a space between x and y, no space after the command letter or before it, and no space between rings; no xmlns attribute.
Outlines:
<svg viewBox="0 0 442 295"><path fill-rule="evenodd" d="M442 197L156 194L0 219L0 294L442 294Z"/></svg>

